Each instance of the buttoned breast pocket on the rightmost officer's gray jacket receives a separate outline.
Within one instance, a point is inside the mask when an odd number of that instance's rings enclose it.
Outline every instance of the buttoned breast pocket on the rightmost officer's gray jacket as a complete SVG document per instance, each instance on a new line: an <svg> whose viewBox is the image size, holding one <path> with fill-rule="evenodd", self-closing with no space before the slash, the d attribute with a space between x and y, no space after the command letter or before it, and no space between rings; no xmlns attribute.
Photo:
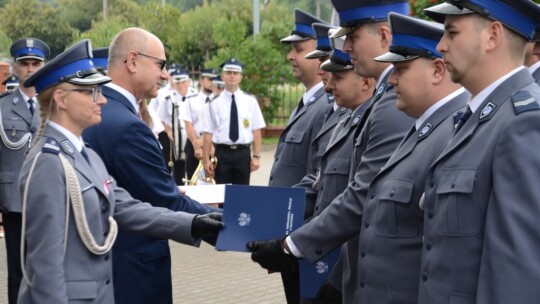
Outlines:
<svg viewBox="0 0 540 304"><path fill-rule="evenodd" d="M480 231L480 206L473 197L476 168L445 169L437 185L435 225L440 235L471 236Z"/></svg>

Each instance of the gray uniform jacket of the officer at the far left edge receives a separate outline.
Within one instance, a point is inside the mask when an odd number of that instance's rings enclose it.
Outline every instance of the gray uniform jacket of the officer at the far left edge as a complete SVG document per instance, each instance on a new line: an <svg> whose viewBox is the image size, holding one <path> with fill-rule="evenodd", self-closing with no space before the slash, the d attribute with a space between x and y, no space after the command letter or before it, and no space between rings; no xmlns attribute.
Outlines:
<svg viewBox="0 0 540 304"><path fill-rule="evenodd" d="M0 97L0 111L2 131L10 142L16 143L28 133L32 134L32 137L36 134L40 122L39 107L36 103L32 116L18 89ZM3 139L0 142L0 210L20 213L17 179L29 142L14 150L8 148Z"/></svg>

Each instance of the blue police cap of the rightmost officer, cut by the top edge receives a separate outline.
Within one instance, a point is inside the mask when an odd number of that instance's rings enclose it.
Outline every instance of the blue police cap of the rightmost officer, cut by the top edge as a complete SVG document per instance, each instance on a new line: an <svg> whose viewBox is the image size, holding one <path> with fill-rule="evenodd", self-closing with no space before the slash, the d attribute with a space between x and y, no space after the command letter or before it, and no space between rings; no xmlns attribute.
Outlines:
<svg viewBox="0 0 540 304"><path fill-rule="evenodd" d="M477 13L501 22L529 41L540 38L540 8L530 0L447 0L424 9L424 12L440 23L444 23L447 15Z"/></svg>

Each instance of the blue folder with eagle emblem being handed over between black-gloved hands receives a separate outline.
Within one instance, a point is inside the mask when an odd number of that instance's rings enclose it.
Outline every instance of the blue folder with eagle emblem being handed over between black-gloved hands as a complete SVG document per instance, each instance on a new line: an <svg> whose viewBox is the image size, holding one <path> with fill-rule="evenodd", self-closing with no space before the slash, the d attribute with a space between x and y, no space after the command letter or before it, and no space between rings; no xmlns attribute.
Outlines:
<svg viewBox="0 0 540 304"><path fill-rule="evenodd" d="M215 248L247 252L249 241L283 238L302 226L305 197L302 188L226 185Z"/></svg>

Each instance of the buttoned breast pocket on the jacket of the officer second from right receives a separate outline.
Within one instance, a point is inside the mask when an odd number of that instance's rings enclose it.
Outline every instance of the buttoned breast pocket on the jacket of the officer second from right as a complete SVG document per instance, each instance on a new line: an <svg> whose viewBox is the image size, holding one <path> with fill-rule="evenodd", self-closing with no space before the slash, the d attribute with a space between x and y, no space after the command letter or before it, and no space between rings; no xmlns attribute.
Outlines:
<svg viewBox="0 0 540 304"><path fill-rule="evenodd" d="M411 204L414 180L389 178L378 191L375 216L377 234L386 237L415 237L422 225L418 205ZM419 218L419 219L418 219Z"/></svg>

